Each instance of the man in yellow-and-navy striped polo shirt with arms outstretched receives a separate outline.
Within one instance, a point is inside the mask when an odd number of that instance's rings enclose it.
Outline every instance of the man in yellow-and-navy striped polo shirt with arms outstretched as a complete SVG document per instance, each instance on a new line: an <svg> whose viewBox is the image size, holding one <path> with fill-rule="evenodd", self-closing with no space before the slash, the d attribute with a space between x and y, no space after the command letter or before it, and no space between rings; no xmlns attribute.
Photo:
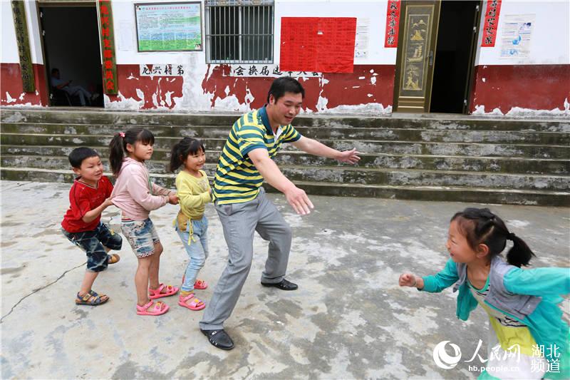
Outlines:
<svg viewBox="0 0 570 380"><path fill-rule="evenodd" d="M291 249L291 227L269 201L261 187L264 180L284 193L289 205L301 215L311 212L313 204L304 190L287 179L273 158L282 143L292 143L306 153L333 158L343 163L358 163L356 149L344 152L328 148L301 136L291 121L301 110L303 86L294 78L277 78L269 89L267 104L239 118L219 156L214 178L214 204L224 228L229 249L226 269L219 278L200 330L214 346L234 348L224 331L224 321L239 299L253 258L254 232L269 240L269 252L261 284L282 290L295 290L285 272Z"/></svg>

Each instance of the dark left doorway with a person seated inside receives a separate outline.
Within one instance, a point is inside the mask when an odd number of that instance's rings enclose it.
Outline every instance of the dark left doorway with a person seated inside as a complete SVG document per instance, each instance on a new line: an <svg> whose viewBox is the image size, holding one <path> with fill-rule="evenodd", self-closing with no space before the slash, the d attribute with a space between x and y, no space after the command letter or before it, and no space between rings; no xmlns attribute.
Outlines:
<svg viewBox="0 0 570 380"><path fill-rule="evenodd" d="M50 105L103 107L95 4L41 6L39 10Z"/></svg>

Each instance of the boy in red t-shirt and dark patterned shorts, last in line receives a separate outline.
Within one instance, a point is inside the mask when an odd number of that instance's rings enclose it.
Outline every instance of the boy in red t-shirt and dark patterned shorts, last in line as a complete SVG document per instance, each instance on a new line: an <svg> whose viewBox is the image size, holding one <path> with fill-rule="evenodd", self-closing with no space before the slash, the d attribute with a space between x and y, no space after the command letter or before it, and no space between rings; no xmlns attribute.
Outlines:
<svg viewBox="0 0 570 380"><path fill-rule="evenodd" d="M123 245L123 239L100 221L103 210L113 205L110 200L113 185L103 175L103 163L95 150L73 149L69 162L78 177L69 190L70 207L63 216L61 230L87 254L87 269L76 304L98 306L109 297L93 292L93 282L99 272L120 260L119 255L108 255L107 252L120 250Z"/></svg>

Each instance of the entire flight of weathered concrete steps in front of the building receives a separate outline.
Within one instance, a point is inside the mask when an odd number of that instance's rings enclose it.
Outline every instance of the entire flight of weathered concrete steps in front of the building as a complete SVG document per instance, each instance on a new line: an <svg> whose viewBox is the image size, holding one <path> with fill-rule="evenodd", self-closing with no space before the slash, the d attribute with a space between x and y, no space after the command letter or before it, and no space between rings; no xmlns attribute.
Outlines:
<svg viewBox="0 0 570 380"><path fill-rule="evenodd" d="M174 175L166 173L170 147L182 136L201 138L205 169L213 175L230 125L239 117L1 111L2 179L71 182L67 155L77 146L98 150L108 170L113 133L140 125L155 134L151 175L169 187L174 187ZM569 120L302 116L295 125L328 146L362 152L361 162L351 166L284 145L276 161L309 194L570 205Z"/></svg>

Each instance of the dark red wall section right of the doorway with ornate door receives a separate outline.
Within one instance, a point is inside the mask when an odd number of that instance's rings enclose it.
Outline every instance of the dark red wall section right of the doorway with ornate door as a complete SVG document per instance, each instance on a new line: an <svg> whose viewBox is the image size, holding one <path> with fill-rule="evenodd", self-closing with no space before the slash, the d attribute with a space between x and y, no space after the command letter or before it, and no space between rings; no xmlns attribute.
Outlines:
<svg viewBox="0 0 570 380"><path fill-rule="evenodd" d="M513 107L564 110L566 98L570 101L570 65L477 66L471 111L475 106L502 113Z"/></svg>

